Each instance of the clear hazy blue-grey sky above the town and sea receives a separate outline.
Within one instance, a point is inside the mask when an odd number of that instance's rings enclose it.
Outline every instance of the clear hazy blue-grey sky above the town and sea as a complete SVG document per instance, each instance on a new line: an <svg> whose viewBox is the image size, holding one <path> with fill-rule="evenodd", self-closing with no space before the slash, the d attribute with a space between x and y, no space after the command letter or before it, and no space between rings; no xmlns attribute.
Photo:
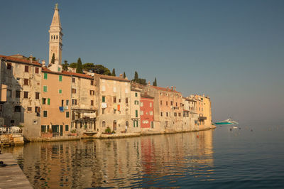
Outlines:
<svg viewBox="0 0 284 189"><path fill-rule="evenodd" d="M62 60L208 95L213 121L284 124L284 1L2 0L0 54L48 61L56 3Z"/></svg>

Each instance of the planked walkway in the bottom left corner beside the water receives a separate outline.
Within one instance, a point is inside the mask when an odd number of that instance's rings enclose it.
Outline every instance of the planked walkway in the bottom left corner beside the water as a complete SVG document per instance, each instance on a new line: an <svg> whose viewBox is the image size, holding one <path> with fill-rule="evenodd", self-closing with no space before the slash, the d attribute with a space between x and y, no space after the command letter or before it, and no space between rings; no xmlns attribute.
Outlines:
<svg viewBox="0 0 284 189"><path fill-rule="evenodd" d="M33 188L11 153L0 154L0 188Z"/></svg>

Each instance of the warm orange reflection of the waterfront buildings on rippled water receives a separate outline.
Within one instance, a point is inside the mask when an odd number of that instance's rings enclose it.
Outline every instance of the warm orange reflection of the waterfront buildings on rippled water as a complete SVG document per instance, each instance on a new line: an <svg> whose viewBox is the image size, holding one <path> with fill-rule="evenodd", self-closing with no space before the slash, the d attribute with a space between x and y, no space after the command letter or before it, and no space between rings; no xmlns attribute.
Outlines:
<svg viewBox="0 0 284 189"><path fill-rule="evenodd" d="M212 132L33 143L12 153L35 188L180 186L213 179Z"/></svg>

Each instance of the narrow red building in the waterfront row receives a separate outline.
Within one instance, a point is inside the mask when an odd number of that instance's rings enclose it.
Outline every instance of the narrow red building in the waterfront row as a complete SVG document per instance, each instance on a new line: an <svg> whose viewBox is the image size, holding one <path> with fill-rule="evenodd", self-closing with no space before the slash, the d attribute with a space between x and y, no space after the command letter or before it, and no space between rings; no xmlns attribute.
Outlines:
<svg viewBox="0 0 284 189"><path fill-rule="evenodd" d="M141 128L154 128L154 97L141 95L140 99Z"/></svg>

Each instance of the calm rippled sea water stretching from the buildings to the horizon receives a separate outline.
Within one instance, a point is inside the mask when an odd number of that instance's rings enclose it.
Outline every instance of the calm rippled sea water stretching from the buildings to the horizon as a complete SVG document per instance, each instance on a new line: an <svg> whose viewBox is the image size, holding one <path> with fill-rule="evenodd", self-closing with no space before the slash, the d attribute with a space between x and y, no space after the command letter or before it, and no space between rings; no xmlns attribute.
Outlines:
<svg viewBox="0 0 284 189"><path fill-rule="evenodd" d="M33 143L12 152L34 188L284 188L284 126Z"/></svg>

